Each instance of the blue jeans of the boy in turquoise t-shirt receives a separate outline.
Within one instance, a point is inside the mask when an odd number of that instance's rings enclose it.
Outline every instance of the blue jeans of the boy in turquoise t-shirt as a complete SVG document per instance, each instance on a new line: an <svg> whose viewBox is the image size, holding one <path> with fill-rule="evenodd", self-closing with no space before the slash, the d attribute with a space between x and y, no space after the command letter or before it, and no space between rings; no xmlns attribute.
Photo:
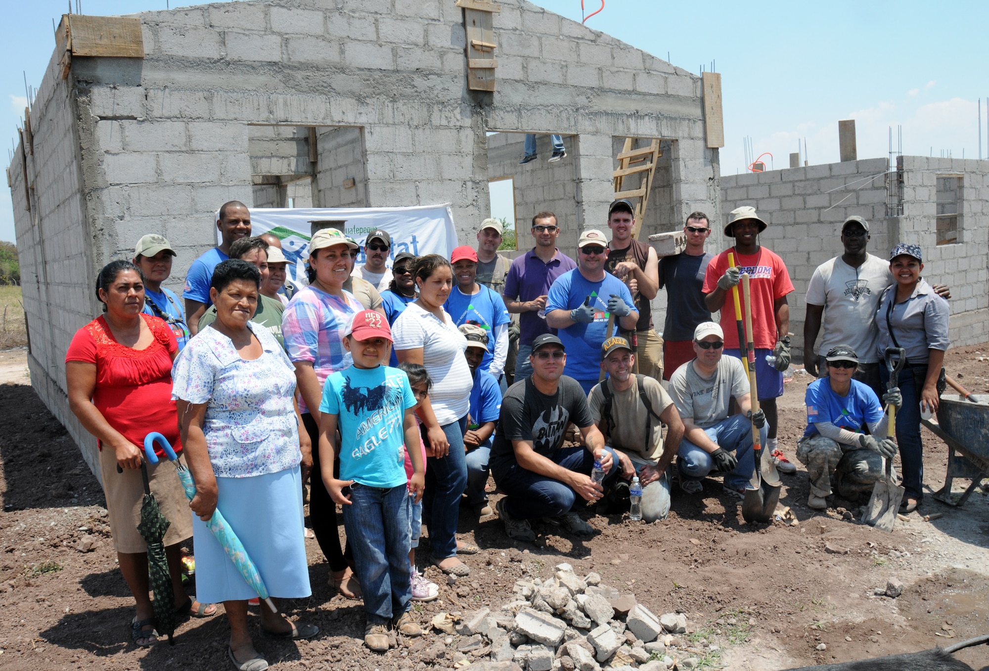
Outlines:
<svg viewBox="0 0 989 671"><path fill-rule="evenodd" d="M343 507L343 527L354 548L367 622L389 623L411 607L408 489L405 484L380 489L355 482L350 501Z"/></svg>

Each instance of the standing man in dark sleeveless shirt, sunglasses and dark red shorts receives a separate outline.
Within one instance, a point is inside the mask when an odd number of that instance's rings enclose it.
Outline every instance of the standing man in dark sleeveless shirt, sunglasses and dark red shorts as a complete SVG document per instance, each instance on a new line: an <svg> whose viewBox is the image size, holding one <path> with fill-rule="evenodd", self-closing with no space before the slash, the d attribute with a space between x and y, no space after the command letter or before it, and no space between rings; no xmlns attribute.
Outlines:
<svg viewBox="0 0 989 671"><path fill-rule="evenodd" d="M711 221L703 212L691 212L683 226L686 247L660 259L660 288L667 290L667 321L663 327L663 379L693 358L693 332L711 321L704 303L704 274L714 254L704 251Z"/></svg>

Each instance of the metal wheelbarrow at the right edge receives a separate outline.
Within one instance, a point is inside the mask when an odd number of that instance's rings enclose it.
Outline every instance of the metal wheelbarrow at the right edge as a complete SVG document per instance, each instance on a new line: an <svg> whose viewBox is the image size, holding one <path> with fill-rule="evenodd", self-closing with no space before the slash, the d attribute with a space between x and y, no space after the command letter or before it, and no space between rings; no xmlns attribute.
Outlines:
<svg viewBox="0 0 989 671"><path fill-rule="evenodd" d="M944 487L934 498L948 506L962 506L982 480L989 477L989 394L942 394L938 421L921 420L947 444ZM951 493L954 478L970 478L964 493Z"/></svg>

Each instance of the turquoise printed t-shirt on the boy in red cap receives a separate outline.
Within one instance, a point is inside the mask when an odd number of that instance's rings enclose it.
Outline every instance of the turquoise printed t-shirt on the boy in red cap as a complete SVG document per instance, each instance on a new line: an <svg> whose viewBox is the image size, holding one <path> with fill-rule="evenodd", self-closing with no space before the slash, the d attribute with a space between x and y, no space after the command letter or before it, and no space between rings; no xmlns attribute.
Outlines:
<svg viewBox="0 0 989 671"><path fill-rule="evenodd" d="M405 371L350 366L326 378L320 413L339 417L340 479L388 489L405 477L405 411L415 405Z"/></svg>

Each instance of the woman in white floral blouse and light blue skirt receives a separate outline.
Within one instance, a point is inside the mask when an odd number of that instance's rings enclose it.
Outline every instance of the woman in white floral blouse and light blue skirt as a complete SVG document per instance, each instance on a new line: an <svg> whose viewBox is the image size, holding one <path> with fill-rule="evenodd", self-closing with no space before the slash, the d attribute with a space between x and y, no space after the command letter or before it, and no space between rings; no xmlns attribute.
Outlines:
<svg viewBox="0 0 989 671"><path fill-rule="evenodd" d="M309 440L295 406L295 367L267 329L250 322L261 276L239 259L220 263L210 299L217 320L182 350L172 368L172 397L197 494L189 504L196 542L200 599L224 602L230 623L228 655L237 669L260 671L267 662L247 632L247 600L257 595L205 525L218 508L243 542L272 597L312 594L303 535L300 438ZM262 607L261 632L308 638Z"/></svg>

